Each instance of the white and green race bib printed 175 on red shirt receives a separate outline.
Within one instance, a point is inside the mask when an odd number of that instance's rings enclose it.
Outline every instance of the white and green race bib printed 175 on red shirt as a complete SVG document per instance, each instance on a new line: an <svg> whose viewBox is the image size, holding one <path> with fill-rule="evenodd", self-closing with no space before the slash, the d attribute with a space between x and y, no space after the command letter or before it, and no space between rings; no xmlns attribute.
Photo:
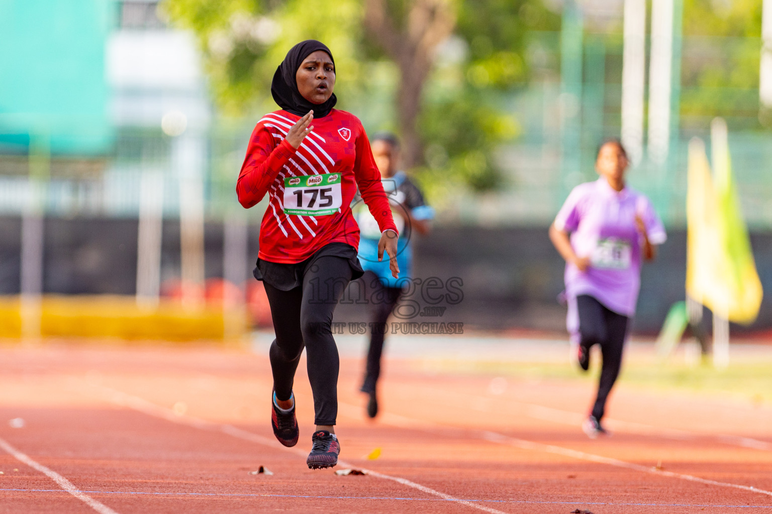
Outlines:
<svg viewBox="0 0 772 514"><path fill-rule="evenodd" d="M288 176L284 179L286 214L327 216L337 213L342 203L340 173Z"/></svg>

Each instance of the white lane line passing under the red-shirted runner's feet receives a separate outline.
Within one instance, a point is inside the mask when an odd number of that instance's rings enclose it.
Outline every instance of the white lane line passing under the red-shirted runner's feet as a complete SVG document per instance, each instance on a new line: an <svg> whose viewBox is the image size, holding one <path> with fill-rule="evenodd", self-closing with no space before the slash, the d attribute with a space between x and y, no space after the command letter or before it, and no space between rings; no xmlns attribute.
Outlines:
<svg viewBox="0 0 772 514"><path fill-rule="evenodd" d="M135 411L142 412L144 414L151 415L156 418L162 418L170 422L180 423L181 425L188 425L193 428L200 428L201 430L222 432L224 434L231 435L233 437L240 438L245 441L255 442L259 445L265 445L271 448L281 449L283 451L289 450L290 452L296 453L296 455L301 455L303 457L306 457L306 452L303 452L303 450L300 450L300 448L286 448L285 446L279 444L279 442L276 441L275 439L269 439L269 438L263 437L262 435L253 434L252 432L248 432L242 428L238 428L233 425L209 422L209 421L206 421L205 419L194 418L188 415L179 415L173 410L171 410L171 408L161 407L161 405L156 405L152 401L147 401L144 398L141 398L139 396L129 395L124 391L118 391L117 389L108 388L103 385L91 385L91 387L97 388L98 390L102 391L103 395L107 398L107 400L109 400L111 403L115 405L132 408ZM338 464L345 468L357 467L348 462L341 461L341 460L338 461ZM430 487L426 487L425 485L421 485L416 482L412 482L411 480L403 479L398 476L384 475L383 473L379 473L371 469L363 469L363 471L367 472L367 475L374 476L378 479L391 480L392 482L397 482L401 485L407 485L408 487L411 487L413 489L418 489L418 491L422 491L433 496L438 496L439 498L448 500L450 502L458 503L459 505L468 506L468 507L471 507L472 509L482 510L483 512L490 512L491 514L507 514L507 512L491 509L490 507L478 505L476 503L469 502L464 499L455 498L454 496L450 496L448 494L445 494L444 492L437 491Z"/></svg>

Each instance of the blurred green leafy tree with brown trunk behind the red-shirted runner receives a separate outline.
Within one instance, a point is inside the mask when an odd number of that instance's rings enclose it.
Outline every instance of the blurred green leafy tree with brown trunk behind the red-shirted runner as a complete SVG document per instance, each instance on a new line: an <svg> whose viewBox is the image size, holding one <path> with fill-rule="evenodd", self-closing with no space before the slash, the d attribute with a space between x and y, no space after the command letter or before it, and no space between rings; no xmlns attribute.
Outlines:
<svg viewBox="0 0 772 514"><path fill-rule="evenodd" d="M396 129L405 167L430 194L448 183L498 185L493 150L518 134L506 99L527 82L528 35L560 27L541 0L165 0L162 8L198 37L226 116L275 109L269 84L286 51L325 42L345 77L341 105L361 114L382 110L374 98L393 102L374 128Z"/></svg>

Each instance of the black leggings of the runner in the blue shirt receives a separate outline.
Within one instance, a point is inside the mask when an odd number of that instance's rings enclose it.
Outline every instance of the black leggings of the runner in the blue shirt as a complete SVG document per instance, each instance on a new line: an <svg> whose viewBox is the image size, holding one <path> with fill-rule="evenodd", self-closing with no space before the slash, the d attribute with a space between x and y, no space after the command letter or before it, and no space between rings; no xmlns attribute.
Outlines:
<svg viewBox="0 0 772 514"><path fill-rule="evenodd" d="M361 278L367 298L367 314L370 317L370 348L367 350L367 368L364 372L362 392L374 393L381 375L381 354L388 330L389 314L402 294L401 287L386 287L372 271L365 271Z"/></svg>

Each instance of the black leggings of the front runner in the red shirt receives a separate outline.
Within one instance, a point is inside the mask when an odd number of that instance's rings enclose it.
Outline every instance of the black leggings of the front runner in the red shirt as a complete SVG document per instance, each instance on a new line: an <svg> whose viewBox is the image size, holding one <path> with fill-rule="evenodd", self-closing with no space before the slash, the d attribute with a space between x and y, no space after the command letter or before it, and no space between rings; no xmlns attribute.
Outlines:
<svg viewBox="0 0 772 514"><path fill-rule="evenodd" d="M276 339L269 352L276 398L289 400L300 354L306 348L308 380L317 425L335 425L340 359L331 324L337 301L351 280L342 257L319 257L303 274L303 286L281 291L265 283Z"/></svg>

